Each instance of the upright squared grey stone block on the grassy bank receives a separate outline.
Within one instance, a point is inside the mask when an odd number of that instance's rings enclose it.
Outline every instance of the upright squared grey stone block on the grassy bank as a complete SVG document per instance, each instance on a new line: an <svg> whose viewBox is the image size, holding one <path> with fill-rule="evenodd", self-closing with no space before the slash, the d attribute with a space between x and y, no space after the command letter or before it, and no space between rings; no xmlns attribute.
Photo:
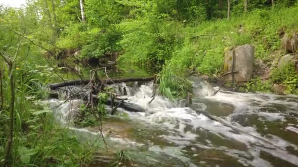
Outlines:
<svg viewBox="0 0 298 167"><path fill-rule="evenodd" d="M233 61L233 58L235 59ZM252 78L254 61L254 46L246 44L225 51L224 81L232 81L232 69L234 69L234 80L246 82ZM233 68L234 62L234 68Z"/></svg>

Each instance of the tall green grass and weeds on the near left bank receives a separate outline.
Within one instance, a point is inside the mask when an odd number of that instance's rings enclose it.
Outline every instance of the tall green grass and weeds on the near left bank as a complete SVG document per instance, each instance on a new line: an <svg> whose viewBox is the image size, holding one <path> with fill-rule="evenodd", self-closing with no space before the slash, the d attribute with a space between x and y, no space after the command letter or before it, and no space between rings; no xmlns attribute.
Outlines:
<svg viewBox="0 0 298 167"><path fill-rule="evenodd" d="M22 59L22 53L19 55ZM41 58L36 55L35 58ZM46 85L56 79L52 68L41 59L17 62L14 67L15 102L14 135L11 166L81 166L92 160L96 147L79 142L75 133L61 126L54 113L40 103L47 96ZM2 60L1 60L2 61ZM1 62L0 61L0 62ZM3 62L1 62L2 65ZM4 69L7 69L6 66ZM9 131L10 93L8 72L2 75L4 105L0 110L0 162ZM6 164L7 165L7 164Z"/></svg>

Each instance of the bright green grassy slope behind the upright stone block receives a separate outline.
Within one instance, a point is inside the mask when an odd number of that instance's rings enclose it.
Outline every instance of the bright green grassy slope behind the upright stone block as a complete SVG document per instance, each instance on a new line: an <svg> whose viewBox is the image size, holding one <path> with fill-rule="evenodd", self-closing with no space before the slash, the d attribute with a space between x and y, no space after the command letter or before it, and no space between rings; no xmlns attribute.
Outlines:
<svg viewBox="0 0 298 167"><path fill-rule="evenodd" d="M171 65L181 70L196 69L201 74L222 72L224 50L243 44L255 46L255 59L272 61L270 54L281 49L278 31L292 31L298 26L298 7L277 10L254 10L231 20L206 21L185 27L182 47L174 52Z"/></svg>

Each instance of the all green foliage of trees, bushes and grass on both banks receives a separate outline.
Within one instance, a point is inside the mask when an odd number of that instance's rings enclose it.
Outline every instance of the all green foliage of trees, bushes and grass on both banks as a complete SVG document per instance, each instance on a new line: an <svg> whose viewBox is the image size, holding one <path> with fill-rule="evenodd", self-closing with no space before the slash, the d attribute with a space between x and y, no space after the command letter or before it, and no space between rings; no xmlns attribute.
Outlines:
<svg viewBox="0 0 298 167"><path fill-rule="evenodd" d="M36 104L47 95L46 85L56 81L48 64L50 52L81 49L82 58L114 52L118 63L160 72L160 93L174 99L185 97L192 84L185 70L213 75L222 72L224 48L255 46L255 58L271 62L280 49L278 31L298 27L297 0L250 0L243 14L243 1L231 0L231 20L226 0L84 0L87 22L80 20L79 0L28 0L25 8L0 5L0 52L16 57L13 77L16 92L13 165L79 166L88 163L93 145L80 143L67 128L56 125L47 107ZM296 4L295 4L296 3ZM21 34L20 35L18 35ZM25 38L23 38L24 36ZM31 40L28 41L27 39ZM18 46L19 49L18 49ZM18 54L15 54L18 50ZM118 54L117 54L118 55ZM0 59L3 106L0 111L0 160L7 142L10 87L6 63ZM2 68L4 67L4 69ZM4 71L4 72L3 72ZM271 92L283 84L287 93L298 93L298 77L292 66L274 70L272 81L253 79L246 91ZM107 94L99 94L96 110L82 106L82 126L96 125L106 114ZM121 159L121 158L120 158Z"/></svg>

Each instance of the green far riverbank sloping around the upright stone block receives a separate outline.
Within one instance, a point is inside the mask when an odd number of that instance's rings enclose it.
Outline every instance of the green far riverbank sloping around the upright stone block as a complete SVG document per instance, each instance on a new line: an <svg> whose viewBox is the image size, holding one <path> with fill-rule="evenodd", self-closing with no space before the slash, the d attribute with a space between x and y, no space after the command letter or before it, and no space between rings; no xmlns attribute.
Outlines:
<svg viewBox="0 0 298 167"><path fill-rule="evenodd" d="M117 63L126 71L135 71L130 69L133 64L153 73L163 71L167 75L167 71L171 71L171 75L183 78L188 73L186 71L192 71L200 76L216 79L215 76L221 77L224 74L226 50L250 44L255 48L253 77L242 82L237 90L297 94L295 67L277 68L279 60L289 52L282 41L289 36L293 37L293 34L295 40L298 32L297 12L297 6L255 9L246 15L233 16L230 20L202 21L195 25L178 24L165 18L124 20L117 24L122 34L117 42L120 47L118 50L103 56L98 55L96 59L85 55L85 46L79 53L81 57L92 60L93 64L102 64L102 61L110 59L105 62ZM146 27L147 24L155 25L156 21L159 22L158 33ZM62 37L61 40L68 38ZM158 39L163 42L158 42ZM172 91L183 91L175 90L178 86L166 86ZM187 86L184 87L187 89Z"/></svg>

